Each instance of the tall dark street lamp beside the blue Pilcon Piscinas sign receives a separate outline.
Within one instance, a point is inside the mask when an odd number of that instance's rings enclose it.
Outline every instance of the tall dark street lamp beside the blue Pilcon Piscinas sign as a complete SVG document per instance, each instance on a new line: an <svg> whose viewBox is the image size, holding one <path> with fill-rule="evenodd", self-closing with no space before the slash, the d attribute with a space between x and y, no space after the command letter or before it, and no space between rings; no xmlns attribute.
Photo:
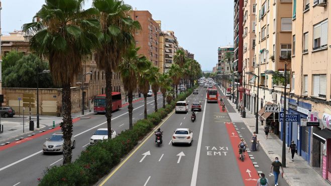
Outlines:
<svg viewBox="0 0 331 186"><path fill-rule="evenodd" d="M284 116L283 116L283 148L282 148L282 165L286 167L286 146L285 146L285 134L286 134L286 62L285 62L285 69L284 69L284 76L276 74L273 70L266 70L264 71L265 74L270 74L273 76L278 76L284 78Z"/></svg>

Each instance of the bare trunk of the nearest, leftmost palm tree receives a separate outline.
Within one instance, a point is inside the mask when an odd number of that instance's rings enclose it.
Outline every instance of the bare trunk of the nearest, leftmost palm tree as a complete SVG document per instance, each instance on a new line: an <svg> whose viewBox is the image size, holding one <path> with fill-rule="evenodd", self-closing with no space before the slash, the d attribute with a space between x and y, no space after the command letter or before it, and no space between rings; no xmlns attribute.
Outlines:
<svg viewBox="0 0 331 186"><path fill-rule="evenodd" d="M71 118L71 91L70 83L62 87L62 105L63 105L63 122L60 124L63 133L63 164L71 163L72 149L72 118Z"/></svg>

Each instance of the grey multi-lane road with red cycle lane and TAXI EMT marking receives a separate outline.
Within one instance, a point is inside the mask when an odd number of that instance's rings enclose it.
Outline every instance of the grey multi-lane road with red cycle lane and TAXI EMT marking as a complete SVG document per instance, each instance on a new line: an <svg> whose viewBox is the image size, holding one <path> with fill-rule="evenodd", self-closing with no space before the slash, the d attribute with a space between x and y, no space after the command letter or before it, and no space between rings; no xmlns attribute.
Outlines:
<svg viewBox="0 0 331 186"><path fill-rule="evenodd" d="M225 97L218 87L219 96ZM219 103L206 102L206 89L190 95L186 101L200 101L202 111L195 122L188 114L172 112L162 121L163 144L156 146L153 133L128 155L112 172L100 179L98 185L256 185L258 173L265 173L270 185L274 177L269 174L271 161L263 151L246 153L245 161L239 159L238 143L244 137L250 148L251 133L228 100L227 110ZM153 98L148 98L148 112L154 111ZM158 96L158 107L162 97ZM143 118L143 101L134 103L134 120ZM87 120L74 123L76 148L73 159L88 145L89 137L97 128L105 127L104 115L90 115ZM233 119L233 121L231 120ZM112 128L118 133L129 128L127 106L113 113ZM171 144L176 128L193 130L191 146ZM51 133L50 133L51 134ZM4 150L0 149L0 185L37 185L46 167L60 165L62 155L44 155L41 151L43 135ZM259 134L259 137L264 137ZM280 178L280 185L287 183Z"/></svg>

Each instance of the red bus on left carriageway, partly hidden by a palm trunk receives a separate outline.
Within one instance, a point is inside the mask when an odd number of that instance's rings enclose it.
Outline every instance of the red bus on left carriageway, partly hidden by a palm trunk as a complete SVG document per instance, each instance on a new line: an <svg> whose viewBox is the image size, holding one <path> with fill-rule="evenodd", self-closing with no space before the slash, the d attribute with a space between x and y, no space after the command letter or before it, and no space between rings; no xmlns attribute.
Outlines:
<svg viewBox="0 0 331 186"><path fill-rule="evenodd" d="M112 92L112 99L113 99L113 111L119 110L122 108L122 97L121 92ZM105 106L106 106L106 95L100 94L94 96L94 112L96 113L105 113Z"/></svg>

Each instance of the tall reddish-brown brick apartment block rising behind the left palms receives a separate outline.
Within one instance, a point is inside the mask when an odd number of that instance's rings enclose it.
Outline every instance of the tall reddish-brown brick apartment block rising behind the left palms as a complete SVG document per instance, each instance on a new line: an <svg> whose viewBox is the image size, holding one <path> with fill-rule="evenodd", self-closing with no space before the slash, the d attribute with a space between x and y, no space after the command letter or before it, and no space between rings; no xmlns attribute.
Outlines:
<svg viewBox="0 0 331 186"><path fill-rule="evenodd" d="M131 18L139 21L142 30L134 34L139 54L145 55L154 66L159 67L159 34L160 26L153 20L149 11L131 11Z"/></svg>

